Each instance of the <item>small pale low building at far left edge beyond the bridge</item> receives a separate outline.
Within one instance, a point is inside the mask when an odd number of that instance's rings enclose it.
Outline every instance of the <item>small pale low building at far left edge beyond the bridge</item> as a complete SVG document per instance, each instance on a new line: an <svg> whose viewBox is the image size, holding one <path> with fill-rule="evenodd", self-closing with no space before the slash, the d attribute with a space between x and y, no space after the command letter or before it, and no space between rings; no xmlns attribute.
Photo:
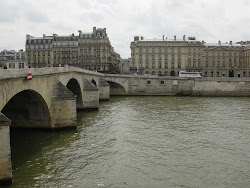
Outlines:
<svg viewBox="0 0 250 188"><path fill-rule="evenodd" d="M2 67L21 69L25 67L25 52L21 49L3 50L0 52L0 62Z"/></svg>

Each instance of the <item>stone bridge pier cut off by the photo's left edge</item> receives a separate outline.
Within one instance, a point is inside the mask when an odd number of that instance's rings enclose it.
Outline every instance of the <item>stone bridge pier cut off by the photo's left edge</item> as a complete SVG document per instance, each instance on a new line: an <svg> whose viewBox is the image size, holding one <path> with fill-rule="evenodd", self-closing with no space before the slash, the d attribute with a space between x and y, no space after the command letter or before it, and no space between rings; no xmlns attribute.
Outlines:
<svg viewBox="0 0 250 188"><path fill-rule="evenodd" d="M0 113L0 185L12 183L10 124L11 121Z"/></svg>

